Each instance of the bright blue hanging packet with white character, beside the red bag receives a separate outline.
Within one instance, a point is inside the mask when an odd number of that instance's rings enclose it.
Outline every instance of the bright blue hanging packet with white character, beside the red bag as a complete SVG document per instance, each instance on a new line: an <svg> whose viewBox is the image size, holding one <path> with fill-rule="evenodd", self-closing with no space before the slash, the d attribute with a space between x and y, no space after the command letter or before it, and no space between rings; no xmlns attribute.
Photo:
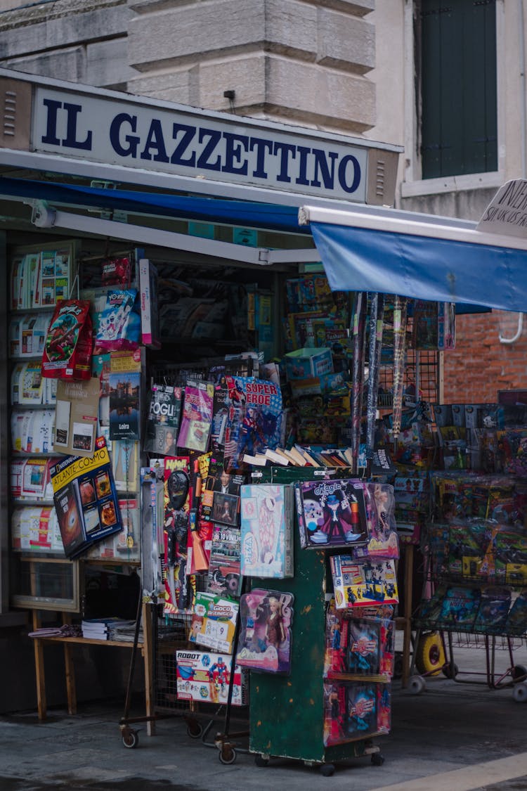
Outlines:
<svg viewBox="0 0 527 791"><path fill-rule="evenodd" d="M141 307L137 289L108 291L100 316L96 347L101 351L134 350L141 342Z"/></svg>

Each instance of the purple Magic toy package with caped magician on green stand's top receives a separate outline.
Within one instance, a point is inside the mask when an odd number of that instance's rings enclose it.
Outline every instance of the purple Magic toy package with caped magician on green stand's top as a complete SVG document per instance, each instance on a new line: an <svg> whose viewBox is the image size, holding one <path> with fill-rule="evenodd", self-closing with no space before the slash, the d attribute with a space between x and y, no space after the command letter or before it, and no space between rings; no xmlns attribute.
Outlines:
<svg viewBox="0 0 527 791"><path fill-rule="evenodd" d="M349 547L367 543L363 483L353 479L295 484L300 546Z"/></svg>

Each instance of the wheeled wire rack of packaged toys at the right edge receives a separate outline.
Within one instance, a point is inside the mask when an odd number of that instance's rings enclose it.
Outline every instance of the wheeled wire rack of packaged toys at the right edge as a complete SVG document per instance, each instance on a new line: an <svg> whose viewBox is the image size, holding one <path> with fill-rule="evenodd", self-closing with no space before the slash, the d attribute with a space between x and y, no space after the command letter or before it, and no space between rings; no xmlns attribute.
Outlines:
<svg viewBox="0 0 527 791"><path fill-rule="evenodd" d="M435 521L423 535L431 593L420 604L416 640L429 631L441 633L446 676L491 689L513 687L514 699L524 701L527 668L515 664L514 647L527 630L525 480L437 472L431 481ZM485 672L457 666L455 649L464 646L484 649ZM499 671L496 651L508 663ZM423 676L412 675L409 688L424 691Z"/></svg>

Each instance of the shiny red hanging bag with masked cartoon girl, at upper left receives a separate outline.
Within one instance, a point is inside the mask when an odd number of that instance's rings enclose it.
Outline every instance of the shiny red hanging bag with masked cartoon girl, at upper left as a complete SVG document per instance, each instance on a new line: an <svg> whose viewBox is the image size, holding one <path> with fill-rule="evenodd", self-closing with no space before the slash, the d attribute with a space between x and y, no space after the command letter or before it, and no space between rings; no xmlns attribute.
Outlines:
<svg viewBox="0 0 527 791"><path fill-rule="evenodd" d="M48 379L89 379L92 376L92 319L88 300L62 300L55 308L42 358Z"/></svg>

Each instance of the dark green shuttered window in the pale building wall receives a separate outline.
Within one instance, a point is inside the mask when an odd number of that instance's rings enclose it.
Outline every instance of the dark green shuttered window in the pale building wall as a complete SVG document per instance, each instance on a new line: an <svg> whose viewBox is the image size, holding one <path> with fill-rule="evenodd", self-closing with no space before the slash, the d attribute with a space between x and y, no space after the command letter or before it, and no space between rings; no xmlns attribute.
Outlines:
<svg viewBox="0 0 527 791"><path fill-rule="evenodd" d="M495 0L421 0L422 178L498 169Z"/></svg>

